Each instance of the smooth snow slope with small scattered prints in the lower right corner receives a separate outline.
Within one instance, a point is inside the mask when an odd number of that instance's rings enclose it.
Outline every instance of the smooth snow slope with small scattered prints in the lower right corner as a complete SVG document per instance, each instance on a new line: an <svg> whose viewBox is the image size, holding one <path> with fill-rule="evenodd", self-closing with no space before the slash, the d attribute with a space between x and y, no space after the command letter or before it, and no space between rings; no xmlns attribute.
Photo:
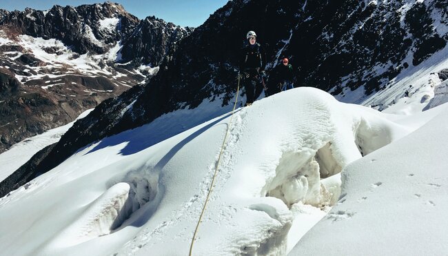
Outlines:
<svg viewBox="0 0 448 256"><path fill-rule="evenodd" d="M447 104L439 108L422 128L349 164L343 197L290 255L446 255Z"/></svg>

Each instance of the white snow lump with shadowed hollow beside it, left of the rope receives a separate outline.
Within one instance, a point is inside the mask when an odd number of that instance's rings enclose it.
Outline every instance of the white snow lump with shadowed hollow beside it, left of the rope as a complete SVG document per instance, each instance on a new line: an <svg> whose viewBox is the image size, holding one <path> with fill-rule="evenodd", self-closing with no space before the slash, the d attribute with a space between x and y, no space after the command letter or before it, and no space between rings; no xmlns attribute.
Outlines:
<svg viewBox="0 0 448 256"><path fill-rule="evenodd" d="M131 171L92 201L53 243L73 246L126 226L143 226L156 211L163 193L158 172Z"/></svg>

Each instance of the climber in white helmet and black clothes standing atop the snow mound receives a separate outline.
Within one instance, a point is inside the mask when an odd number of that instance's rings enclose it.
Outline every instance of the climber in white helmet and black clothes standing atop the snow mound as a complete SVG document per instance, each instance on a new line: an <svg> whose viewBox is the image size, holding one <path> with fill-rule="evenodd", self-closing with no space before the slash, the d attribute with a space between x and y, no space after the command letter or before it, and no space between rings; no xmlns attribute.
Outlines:
<svg viewBox="0 0 448 256"><path fill-rule="evenodd" d="M240 75L246 90L246 106L250 106L263 90L266 55L260 43L256 43L254 31L247 32L247 43L241 52Z"/></svg>

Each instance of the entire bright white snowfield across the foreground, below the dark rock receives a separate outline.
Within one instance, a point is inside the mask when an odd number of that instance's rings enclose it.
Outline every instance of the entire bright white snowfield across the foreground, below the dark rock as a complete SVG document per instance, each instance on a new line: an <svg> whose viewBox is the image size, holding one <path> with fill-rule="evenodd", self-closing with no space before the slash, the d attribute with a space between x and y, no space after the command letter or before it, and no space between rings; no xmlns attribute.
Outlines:
<svg viewBox="0 0 448 256"><path fill-rule="evenodd" d="M434 159L447 153L447 113L385 114L296 88L173 137L160 117L0 199L0 248L187 255L229 128L192 255L440 255L448 166ZM147 146L155 130L170 138Z"/></svg>

